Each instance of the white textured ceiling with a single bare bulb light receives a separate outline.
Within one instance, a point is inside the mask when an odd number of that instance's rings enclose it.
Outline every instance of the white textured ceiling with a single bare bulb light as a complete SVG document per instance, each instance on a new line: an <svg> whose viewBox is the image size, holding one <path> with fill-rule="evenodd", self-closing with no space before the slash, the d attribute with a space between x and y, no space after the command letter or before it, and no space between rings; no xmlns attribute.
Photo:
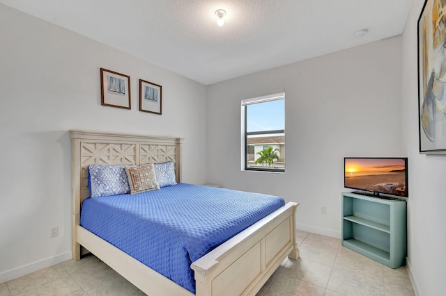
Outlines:
<svg viewBox="0 0 446 296"><path fill-rule="evenodd" d="M205 85L399 35L412 2L0 0Z"/></svg>

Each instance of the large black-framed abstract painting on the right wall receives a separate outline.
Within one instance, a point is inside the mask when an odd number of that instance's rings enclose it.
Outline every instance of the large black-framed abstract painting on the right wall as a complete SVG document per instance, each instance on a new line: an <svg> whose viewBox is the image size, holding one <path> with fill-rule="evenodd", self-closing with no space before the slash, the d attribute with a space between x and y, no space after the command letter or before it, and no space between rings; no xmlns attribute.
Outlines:
<svg viewBox="0 0 446 296"><path fill-rule="evenodd" d="M446 154L446 0L426 0L418 19L420 154Z"/></svg>

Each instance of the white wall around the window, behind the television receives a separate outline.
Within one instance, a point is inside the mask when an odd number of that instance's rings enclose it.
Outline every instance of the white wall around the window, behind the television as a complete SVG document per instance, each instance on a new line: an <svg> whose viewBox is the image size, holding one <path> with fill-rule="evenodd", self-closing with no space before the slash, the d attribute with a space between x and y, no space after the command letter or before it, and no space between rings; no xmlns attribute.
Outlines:
<svg viewBox="0 0 446 296"><path fill-rule="evenodd" d="M241 172L240 101L283 91L285 174ZM401 37L208 85L210 183L299 202L298 228L340 237L344 156L401 156Z"/></svg>

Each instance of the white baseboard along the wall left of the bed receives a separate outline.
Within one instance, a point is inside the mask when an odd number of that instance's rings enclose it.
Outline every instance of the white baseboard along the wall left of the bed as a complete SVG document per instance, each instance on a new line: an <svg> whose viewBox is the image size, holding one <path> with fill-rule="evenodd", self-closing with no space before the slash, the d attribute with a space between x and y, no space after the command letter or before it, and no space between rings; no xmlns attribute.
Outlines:
<svg viewBox="0 0 446 296"><path fill-rule="evenodd" d="M65 252L56 256L45 258L40 261L29 263L27 265L20 266L20 268L14 268L13 270L7 270L6 272L0 273L0 283L5 281L10 281L11 279L17 279L17 277L22 277L25 274L41 270L43 268L48 268L49 266L59 264L63 261L71 259L71 252Z"/></svg>

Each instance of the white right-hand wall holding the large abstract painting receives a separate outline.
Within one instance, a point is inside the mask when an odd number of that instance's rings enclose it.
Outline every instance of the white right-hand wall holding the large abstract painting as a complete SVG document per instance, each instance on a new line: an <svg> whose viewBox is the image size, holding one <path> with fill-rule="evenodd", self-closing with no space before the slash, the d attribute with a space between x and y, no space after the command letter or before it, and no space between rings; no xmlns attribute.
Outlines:
<svg viewBox="0 0 446 296"><path fill-rule="evenodd" d="M446 156L418 153L417 21L413 1L403 32L403 148L409 157L408 266L418 295L444 295L446 275Z"/></svg>

